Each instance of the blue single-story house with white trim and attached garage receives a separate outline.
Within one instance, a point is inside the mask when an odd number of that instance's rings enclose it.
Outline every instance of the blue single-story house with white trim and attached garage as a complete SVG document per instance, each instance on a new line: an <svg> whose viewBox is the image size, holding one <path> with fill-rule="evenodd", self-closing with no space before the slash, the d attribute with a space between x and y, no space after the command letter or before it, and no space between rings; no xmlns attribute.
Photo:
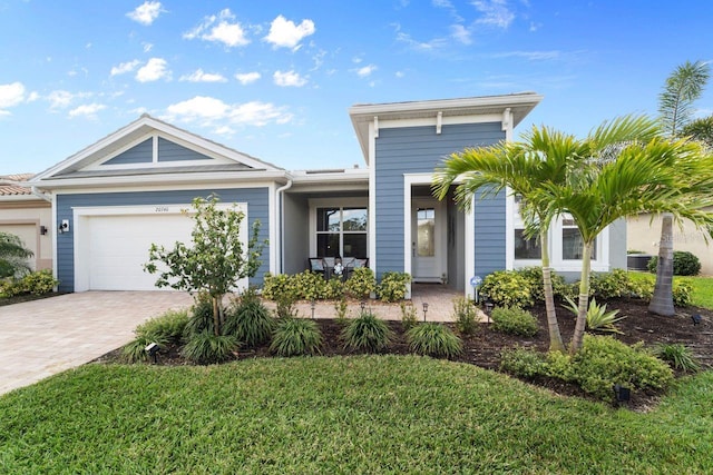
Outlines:
<svg viewBox="0 0 713 475"><path fill-rule="evenodd" d="M187 241L193 222L180 210L216 192L250 224L260 220L260 237L270 241L250 284L266 271L302 271L312 256L351 256L369 258L378 278L407 271L471 293L473 276L537 264L536 245L521 237L512 197L477 199L463 214L452 199L431 197L433 170L453 151L511 139L540 100L525 92L356 105L349 113L367 167L307 171L145 115L29 185L51 196L62 290L153 289L155 276L141 268L149 245ZM578 273L572 222L561 219L553 232L555 267ZM594 270L626 265L624 236L623 226L602 236Z"/></svg>

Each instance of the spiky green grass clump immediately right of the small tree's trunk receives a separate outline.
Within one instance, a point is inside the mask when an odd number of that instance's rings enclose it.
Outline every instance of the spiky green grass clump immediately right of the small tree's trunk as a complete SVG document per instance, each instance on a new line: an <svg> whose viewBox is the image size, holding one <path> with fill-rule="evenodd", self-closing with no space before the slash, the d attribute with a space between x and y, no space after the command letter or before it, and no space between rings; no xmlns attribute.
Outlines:
<svg viewBox="0 0 713 475"><path fill-rule="evenodd" d="M240 299L233 300L226 311L223 333L234 335L247 346L257 346L270 339L274 326L275 319L271 311L248 289Z"/></svg>

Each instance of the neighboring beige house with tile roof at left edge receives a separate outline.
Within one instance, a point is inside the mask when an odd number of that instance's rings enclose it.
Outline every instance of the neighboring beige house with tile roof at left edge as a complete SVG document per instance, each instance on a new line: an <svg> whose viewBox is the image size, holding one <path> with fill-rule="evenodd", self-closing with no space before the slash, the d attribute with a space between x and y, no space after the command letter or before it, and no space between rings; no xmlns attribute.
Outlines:
<svg viewBox="0 0 713 475"><path fill-rule="evenodd" d="M49 198L33 194L25 182L32 174L0 176L0 232L22 239L35 256L35 270L52 268L52 206Z"/></svg>

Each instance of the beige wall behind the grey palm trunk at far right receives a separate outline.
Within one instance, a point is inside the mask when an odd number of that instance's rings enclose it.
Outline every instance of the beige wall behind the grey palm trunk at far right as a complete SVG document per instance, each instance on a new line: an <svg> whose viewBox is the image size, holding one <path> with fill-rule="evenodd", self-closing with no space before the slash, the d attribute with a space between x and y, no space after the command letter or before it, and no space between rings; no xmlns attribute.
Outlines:
<svg viewBox="0 0 713 475"><path fill-rule="evenodd" d="M713 208L711 209L713 211ZM642 250L654 256L658 255L658 240L661 239L661 217L641 215L628 218L626 248L629 250ZM696 230L688 221L684 221L683 227L674 222L673 228L674 250L687 250L701 259L701 274L713 276L713 240L706 245L703 231Z"/></svg>

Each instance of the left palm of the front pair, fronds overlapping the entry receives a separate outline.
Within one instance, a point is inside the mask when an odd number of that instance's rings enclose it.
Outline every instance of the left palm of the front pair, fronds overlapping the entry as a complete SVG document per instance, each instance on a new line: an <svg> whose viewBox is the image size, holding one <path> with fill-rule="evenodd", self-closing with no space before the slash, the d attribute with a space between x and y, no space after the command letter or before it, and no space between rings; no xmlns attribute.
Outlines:
<svg viewBox="0 0 713 475"><path fill-rule="evenodd" d="M655 133L655 125L644 118L619 119L616 127L599 128L596 140L587 142L546 127L533 127L521 141L452 154L436 170L433 194L443 199L450 186L458 182L456 201L461 209L470 208L472 197L478 191L487 197L509 189L524 198L522 215L530 237L537 232L540 239L551 350L565 349L555 311L548 240L549 226L559 211L550 206L549 197L540 191L553 185L565 186L569 170L579 168L579 162L592 155L593 148L612 150L616 144L649 138Z"/></svg>

